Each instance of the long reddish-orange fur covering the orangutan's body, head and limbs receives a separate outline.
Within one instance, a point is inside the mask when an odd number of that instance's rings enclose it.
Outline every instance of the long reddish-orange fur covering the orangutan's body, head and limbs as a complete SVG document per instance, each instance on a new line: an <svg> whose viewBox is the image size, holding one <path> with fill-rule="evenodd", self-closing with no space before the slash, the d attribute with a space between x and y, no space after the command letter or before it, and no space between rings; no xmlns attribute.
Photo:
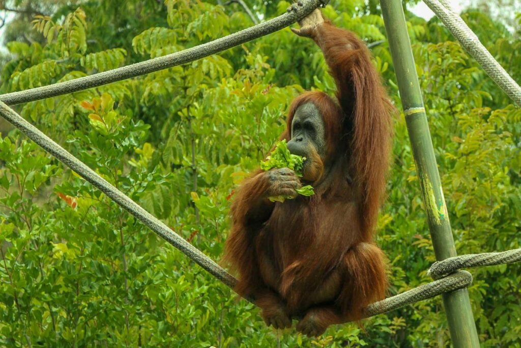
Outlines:
<svg viewBox="0 0 521 348"><path fill-rule="evenodd" d="M384 296L384 257L373 235L392 136L392 105L365 44L329 22L314 40L336 80L337 101L322 92L300 95L280 138L290 140L297 107L317 106L327 154L312 155L304 173L315 195L269 202L266 173L255 171L232 203L225 250L239 273L237 292L256 300L268 325L285 327L285 315L301 318L297 329L310 335L360 319L365 306Z"/></svg>

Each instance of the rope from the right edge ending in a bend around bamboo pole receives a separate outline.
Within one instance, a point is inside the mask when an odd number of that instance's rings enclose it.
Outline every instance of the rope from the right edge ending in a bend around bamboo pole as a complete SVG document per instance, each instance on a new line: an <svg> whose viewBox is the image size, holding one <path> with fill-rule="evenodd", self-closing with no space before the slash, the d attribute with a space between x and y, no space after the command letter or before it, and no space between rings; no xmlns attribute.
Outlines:
<svg viewBox="0 0 521 348"><path fill-rule="evenodd" d="M449 257L432 264L427 272L432 279L440 279L460 268L477 266L494 266L502 263L513 263L521 261L521 249L502 251L501 253L468 254Z"/></svg>

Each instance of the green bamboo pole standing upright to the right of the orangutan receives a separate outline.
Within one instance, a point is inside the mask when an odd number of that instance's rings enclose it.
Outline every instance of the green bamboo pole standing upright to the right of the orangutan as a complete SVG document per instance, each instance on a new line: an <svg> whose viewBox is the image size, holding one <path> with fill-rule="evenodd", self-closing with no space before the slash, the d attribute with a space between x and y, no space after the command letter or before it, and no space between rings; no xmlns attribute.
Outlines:
<svg viewBox="0 0 521 348"><path fill-rule="evenodd" d="M421 195L427 211L432 244L436 259L443 260L456 256L456 248L421 97L402 2L400 0L380 0L380 4L407 130L411 138ZM479 340L467 289L445 293L442 296L453 346L455 348L478 348Z"/></svg>

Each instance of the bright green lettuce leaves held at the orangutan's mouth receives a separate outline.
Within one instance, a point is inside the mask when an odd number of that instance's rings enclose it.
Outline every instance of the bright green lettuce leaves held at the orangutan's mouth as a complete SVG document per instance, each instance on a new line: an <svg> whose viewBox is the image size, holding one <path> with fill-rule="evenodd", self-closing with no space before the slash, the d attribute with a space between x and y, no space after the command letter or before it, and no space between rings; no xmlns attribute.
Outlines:
<svg viewBox="0 0 521 348"><path fill-rule="evenodd" d="M305 157L291 154L290 150L288 150L286 139L283 139L277 143L275 150L271 151L270 155L266 157L266 161L261 162L261 169L263 171L269 171L272 168L289 168L293 170L297 176L302 176L302 167L305 159ZM302 196L312 196L315 194L311 185L303 186L296 189L296 191ZM291 198L294 197L276 196L269 197L269 200L272 202L283 202L285 199Z"/></svg>

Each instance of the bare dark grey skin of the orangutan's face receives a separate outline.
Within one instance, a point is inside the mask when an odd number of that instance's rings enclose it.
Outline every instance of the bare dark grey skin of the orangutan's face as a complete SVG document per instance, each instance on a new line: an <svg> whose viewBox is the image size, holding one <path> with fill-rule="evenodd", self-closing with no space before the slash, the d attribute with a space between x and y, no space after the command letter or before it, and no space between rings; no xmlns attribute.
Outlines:
<svg viewBox="0 0 521 348"><path fill-rule="evenodd" d="M295 111L291 123L291 140L288 149L291 153L311 158L313 149L324 158L326 155L326 136L324 121L313 103L302 104Z"/></svg>

